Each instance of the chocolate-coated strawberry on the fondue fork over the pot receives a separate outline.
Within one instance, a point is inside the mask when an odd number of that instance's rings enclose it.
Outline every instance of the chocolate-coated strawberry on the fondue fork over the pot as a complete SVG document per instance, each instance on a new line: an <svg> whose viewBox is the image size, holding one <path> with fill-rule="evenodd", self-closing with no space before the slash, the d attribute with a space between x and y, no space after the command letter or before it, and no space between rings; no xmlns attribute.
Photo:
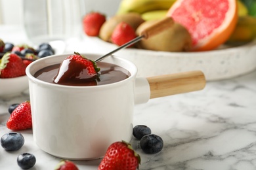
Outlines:
<svg viewBox="0 0 256 170"><path fill-rule="evenodd" d="M75 52L62 61L58 74L54 77L54 83L69 85L74 82L95 82L98 71L100 69L94 61Z"/></svg>

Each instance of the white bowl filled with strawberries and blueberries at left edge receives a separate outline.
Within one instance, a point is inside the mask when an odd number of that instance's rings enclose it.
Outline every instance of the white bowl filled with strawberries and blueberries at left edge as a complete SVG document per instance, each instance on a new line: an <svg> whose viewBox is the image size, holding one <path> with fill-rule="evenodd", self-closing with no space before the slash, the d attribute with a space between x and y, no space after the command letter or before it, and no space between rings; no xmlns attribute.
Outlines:
<svg viewBox="0 0 256 170"><path fill-rule="evenodd" d="M26 67L39 58L54 54L48 43L38 48L27 44L14 45L1 41L0 46L0 98L10 98L28 90Z"/></svg>

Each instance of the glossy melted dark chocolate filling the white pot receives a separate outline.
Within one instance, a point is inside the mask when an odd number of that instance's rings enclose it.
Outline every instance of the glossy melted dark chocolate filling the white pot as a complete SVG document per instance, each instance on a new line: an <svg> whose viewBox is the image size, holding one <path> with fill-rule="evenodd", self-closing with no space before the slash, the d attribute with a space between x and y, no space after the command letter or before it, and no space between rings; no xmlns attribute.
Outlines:
<svg viewBox="0 0 256 170"><path fill-rule="evenodd" d="M102 84L110 84L114 82L119 82L128 78L131 74L126 69L119 67L118 65L114 65L111 63L99 62L97 63L100 71L98 72L98 78L96 80L84 81L83 79L73 79L70 81L64 82L54 82L54 78L58 74L58 69L60 64L50 65L43 69L40 69L33 75L35 78L39 80L43 80L45 82L51 82L54 84L62 84L68 86L97 86Z"/></svg>

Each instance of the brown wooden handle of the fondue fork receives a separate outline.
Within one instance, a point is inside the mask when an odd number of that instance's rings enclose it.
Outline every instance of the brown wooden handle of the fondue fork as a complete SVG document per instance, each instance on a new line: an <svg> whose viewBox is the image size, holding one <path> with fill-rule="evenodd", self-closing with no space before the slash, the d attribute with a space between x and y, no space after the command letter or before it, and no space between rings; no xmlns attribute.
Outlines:
<svg viewBox="0 0 256 170"><path fill-rule="evenodd" d="M143 36L144 39L148 39L149 37L152 37L160 33L164 29L171 27L173 24L174 24L173 18L171 17L163 18L162 20L160 20L160 22L157 22L156 24L144 29L140 33L140 36Z"/></svg>

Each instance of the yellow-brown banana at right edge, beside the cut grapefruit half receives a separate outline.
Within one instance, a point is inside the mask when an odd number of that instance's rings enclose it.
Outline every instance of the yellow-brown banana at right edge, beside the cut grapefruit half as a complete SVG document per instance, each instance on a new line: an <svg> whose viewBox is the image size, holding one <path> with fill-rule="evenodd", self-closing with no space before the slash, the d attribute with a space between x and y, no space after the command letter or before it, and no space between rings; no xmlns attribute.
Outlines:
<svg viewBox="0 0 256 170"><path fill-rule="evenodd" d="M253 16L239 16L238 23L232 35L230 35L228 44L239 44L256 39L256 18Z"/></svg>

